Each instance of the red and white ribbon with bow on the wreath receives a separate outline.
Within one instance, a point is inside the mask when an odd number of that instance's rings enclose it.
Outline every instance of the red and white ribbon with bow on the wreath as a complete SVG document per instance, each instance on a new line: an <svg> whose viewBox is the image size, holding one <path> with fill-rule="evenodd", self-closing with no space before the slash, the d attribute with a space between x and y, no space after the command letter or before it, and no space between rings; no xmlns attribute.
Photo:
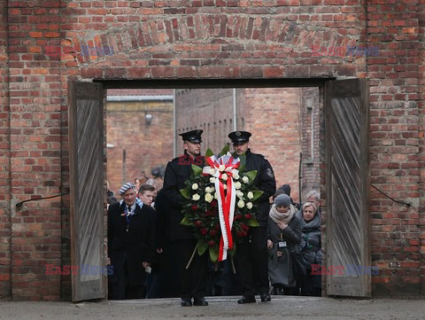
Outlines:
<svg viewBox="0 0 425 320"><path fill-rule="evenodd" d="M240 160L234 159L228 152L219 159L213 155L207 158L206 161L210 166L205 166L202 174L216 178L214 186L219 203L221 229L218 261L224 261L228 257L228 250L233 249L232 226L236 203L236 188L233 183L233 176L239 173L237 168L239 168ZM226 189L223 180L226 181Z"/></svg>

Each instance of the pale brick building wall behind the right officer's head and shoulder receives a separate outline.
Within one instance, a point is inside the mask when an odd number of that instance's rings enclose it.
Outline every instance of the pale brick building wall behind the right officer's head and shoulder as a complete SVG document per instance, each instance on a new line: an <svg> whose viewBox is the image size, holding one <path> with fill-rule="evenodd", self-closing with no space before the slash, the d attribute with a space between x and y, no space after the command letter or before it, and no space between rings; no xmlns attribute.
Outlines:
<svg viewBox="0 0 425 320"><path fill-rule="evenodd" d="M276 187L290 184L290 196L298 201L301 90L245 89L243 99L245 129L252 133L251 151L266 156Z"/></svg>

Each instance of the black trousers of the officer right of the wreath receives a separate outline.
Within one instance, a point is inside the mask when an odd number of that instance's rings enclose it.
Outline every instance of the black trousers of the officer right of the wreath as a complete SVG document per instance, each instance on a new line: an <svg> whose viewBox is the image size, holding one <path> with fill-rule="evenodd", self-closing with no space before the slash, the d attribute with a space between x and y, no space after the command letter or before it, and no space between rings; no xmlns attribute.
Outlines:
<svg viewBox="0 0 425 320"><path fill-rule="evenodd" d="M237 245L235 258L243 295L268 293L267 227L251 228Z"/></svg>

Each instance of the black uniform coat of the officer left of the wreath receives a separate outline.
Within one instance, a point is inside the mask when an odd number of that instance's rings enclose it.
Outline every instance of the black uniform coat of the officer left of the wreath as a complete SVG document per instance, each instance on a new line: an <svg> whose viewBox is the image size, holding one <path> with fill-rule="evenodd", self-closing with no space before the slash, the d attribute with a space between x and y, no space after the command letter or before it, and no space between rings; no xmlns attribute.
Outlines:
<svg viewBox="0 0 425 320"><path fill-rule="evenodd" d="M186 187L184 182L192 174L192 164L196 164L201 168L204 167L204 157L198 156L192 161L187 152L185 152L183 156L174 158L166 165L163 185L166 205L163 206L163 209L169 212L170 238L172 240L194 238L192 227L180 224L184 217L182 214L184 198L179 191Z"/></svg>

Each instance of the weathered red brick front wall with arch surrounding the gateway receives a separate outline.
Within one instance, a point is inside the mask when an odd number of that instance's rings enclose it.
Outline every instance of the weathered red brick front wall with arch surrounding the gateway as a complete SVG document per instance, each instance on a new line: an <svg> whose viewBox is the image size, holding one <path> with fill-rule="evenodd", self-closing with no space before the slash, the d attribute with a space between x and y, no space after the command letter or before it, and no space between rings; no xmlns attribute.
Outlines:
<svg viewBox="0 0 425 320"><path fill-rule="evenodd" d="M60 296L60 277L44 276L44 264L69 256L67 198L18 210L12 203L66 191L67 82L94 78L369 78L371 183L412 204L370 189L372 264L380 268L373 294L423 293L423 1L8 0L0 12L3 35L8 23L0 76L10 74L0 85L0 166L10 173L0 174L2 297L11 288L15 300ZM73 39L76 54L46 55L46 45L70 48ZM378 46L378 57L312 54L312 45L367 43ZM113 54L83 57L81 44L108 45Z"/></svg>

